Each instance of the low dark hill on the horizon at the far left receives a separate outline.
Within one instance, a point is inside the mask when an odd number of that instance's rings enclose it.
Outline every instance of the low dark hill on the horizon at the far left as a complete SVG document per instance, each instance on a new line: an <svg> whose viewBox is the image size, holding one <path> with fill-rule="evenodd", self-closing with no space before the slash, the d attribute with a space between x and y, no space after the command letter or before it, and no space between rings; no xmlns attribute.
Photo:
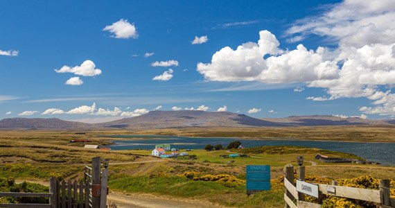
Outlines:
<svg viewBox="0 0 395 208"><path fill-rule="evenodd" d="M88 123L80 123L73 121L63 121L60 119L3 119L0 121L0 128L7 129L83 129L92 128Z"/></svg>

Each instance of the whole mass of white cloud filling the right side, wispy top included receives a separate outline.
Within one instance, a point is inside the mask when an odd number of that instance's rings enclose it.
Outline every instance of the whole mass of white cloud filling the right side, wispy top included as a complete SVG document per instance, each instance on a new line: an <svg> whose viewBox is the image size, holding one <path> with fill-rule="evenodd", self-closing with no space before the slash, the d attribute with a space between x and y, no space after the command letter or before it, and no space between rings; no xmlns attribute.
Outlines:
<svg viewBox="0 0 395 208"><path fill-rule="evenodd" d="M303 44L281 49L275 35L260 31L258 42L226 46L210 63L198 63L197 70L209 81L304 83L326 92L309 100L367 98L373 106L360 107L361 112L394 115L394 19L395 1L343 1L328 6L323 15L297 21L286 32L289 42L319 35L334 41L335 49L306 49Z"/></svg>

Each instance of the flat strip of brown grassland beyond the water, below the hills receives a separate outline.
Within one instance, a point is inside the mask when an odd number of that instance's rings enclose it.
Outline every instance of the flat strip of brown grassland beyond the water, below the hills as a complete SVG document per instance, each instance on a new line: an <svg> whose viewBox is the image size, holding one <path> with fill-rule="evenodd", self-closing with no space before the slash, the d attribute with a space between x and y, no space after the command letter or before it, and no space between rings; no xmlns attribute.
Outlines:
<svg viewBox="0 0 395 208"><path fill-rule="evenodd" d="M257 139L306 139L319 141L395 142L392 125L332 125L256 128L169 128L156 130L97 131L105 135L168 135L185 137L237 137ZM115 139L114 139L115 140Z"/></svg>

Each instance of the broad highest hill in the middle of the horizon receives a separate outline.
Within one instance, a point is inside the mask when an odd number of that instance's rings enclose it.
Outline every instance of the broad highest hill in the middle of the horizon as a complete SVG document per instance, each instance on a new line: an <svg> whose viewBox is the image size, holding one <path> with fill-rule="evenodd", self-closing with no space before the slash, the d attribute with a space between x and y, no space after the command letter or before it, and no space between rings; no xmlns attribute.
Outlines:
<svg viewBox="0 0 395 208"><path fill-rule="evenodd" d="M284 125L254 119L245 114L205 112L201 110L152 111L142 116L96 124L98 128L182 128L193 126L245 127Z"/></svg>

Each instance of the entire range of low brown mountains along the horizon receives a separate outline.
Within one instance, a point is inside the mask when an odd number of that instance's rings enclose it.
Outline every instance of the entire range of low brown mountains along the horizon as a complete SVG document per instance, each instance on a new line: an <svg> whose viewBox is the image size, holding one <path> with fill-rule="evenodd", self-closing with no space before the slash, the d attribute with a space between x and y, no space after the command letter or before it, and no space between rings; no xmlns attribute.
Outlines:
<svg viewBox="0 0 395 208"><path fill-rule="evenodd" d="M204 111L152 111L142 116L106 123L81 123L61 119L3 119L0 129L158 129L188 127L287 127L313 125L395 125L395 120L369 120L339 116L289 116L255 119L245 114Z"/></svg>

